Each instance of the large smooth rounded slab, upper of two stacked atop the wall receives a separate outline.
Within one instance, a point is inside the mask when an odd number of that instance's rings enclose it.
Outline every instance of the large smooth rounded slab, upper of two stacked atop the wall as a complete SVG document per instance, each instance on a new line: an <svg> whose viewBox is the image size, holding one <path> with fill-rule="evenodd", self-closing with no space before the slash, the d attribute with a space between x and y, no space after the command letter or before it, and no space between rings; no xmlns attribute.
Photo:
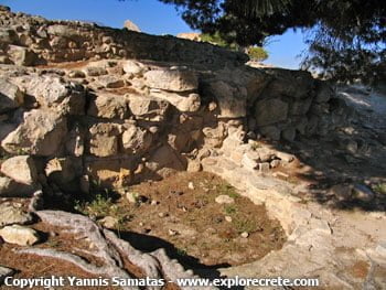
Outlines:
<svg viewBox="0 0 386 290"><path fill-rule="evenodd" d="M171 92L196 90L199 78L194 72L179 69L154 69L144 74L146 84L151 88Z"/></svg>

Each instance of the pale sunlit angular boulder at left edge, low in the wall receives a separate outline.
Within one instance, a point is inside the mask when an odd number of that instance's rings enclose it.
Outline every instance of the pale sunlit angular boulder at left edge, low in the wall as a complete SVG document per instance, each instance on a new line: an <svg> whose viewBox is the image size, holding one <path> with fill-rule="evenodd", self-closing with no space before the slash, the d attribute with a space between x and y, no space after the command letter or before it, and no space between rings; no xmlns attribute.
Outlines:
<svg viewBox="0 0 386 290"><path fill-rule="evenodd" d="M7 159L1 164L1 173L26 185L32 185L37 181L35 164L29 155L19 155Z"/></svg>

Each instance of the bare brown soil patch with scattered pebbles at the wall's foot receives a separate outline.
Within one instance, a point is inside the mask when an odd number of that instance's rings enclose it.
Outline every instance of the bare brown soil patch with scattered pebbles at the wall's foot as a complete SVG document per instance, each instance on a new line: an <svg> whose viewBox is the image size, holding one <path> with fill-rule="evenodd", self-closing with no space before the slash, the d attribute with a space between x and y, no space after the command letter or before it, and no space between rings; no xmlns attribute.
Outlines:
<svg viewBox="0 0 386 290"><path fill-rule="evenodd" d="M135 247L167 248L191 267L250 262L280 249L286 239L280 223L268 217L265 206L255 205L211 173L181 172L131 186L127 195L135 196L135 202L121 196L114 211L100 198L84 204L83 211L99 221L106 215L117 217L115 229ZM219 195L234 203L216 203Z"/></svg>

